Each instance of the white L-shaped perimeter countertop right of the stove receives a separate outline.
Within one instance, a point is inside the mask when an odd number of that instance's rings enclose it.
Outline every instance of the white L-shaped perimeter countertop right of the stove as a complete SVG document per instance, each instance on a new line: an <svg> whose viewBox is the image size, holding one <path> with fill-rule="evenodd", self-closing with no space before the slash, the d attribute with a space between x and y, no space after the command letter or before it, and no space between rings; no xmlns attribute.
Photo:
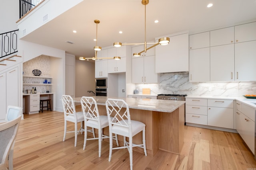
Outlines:
<svg viewBox="0 0 256 170"><path fill-rule="evenodd" d="M186 98L201 98L201 99L228 99L228 100L238 100L243 104L256 109L256 99L250 99L245 97L224 97L224 96L186 96Z"/></svg>

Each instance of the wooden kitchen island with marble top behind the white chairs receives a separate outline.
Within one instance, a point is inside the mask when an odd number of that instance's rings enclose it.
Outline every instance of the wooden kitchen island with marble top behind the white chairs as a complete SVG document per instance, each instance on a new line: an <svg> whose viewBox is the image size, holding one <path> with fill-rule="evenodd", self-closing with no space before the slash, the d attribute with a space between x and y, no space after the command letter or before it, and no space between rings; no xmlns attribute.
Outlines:
<svg viewBox="0 0 256 170"><path fill-rule="evenodd" d="M106 100L108 98L94 96L97 102L100 115L107 115ZM80 103L81 98L74 98L74 102ZM123 99L129 106L132 120L141 121L146 125L146 149L150 156L164 150L180 154L184 143L184 104L185 101L157 100L157 99ZM108 134L108 128L104 128L104 134ZM141 132L142 133L142 132ZM141 143L142 134L133 137L133 143ZM123 144L122 137L118 137L120 144ZM141 148L134 150L142 152Z"/></svg>

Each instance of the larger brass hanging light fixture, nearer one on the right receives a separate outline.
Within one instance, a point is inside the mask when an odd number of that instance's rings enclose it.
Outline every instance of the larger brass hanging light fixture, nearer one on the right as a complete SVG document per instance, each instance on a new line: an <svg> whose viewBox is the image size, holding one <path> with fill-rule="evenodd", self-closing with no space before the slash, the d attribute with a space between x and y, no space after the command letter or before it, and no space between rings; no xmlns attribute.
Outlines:
<svg viewBox="0 0 256 170"><path fill-rule="evenodd" d="M159 45L159 44L160 45L167 45L170 42L169 37L163 37L163 38L158 39L158 43L147 43L146 42L146 5L149 3L149 0L142 0L141 3L145 6L145 41L144 41L144 43L125 43L125 44L122 44L120 42L115 42L114 43L114 47L121 47L122 45L144 45L144 50L140 51L139 53L134 53L133 54L134 57L139 57L141 53L143 53L143 52L146 53L147 50L149 50L153 47L156 47L156 45ZM148 44L153 44L153 45L147 48Z"/></svg>

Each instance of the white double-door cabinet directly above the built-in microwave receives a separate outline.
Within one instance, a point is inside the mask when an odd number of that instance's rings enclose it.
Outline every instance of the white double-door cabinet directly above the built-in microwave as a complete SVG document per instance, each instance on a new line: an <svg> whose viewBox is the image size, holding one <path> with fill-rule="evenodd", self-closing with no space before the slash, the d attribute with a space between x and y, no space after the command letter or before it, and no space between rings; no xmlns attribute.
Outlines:
<svg viewBox="0 0 256 170"><path fill-rule="evenodd" d="M108 76L108 60L100 59L95 61L95 78Z"/></svg>

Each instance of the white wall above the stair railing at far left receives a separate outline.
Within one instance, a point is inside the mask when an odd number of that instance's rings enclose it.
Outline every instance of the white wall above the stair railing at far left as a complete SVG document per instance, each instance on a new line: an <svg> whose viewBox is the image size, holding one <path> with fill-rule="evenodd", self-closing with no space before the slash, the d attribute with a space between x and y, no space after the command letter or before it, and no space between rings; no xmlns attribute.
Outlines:
<svg viewBox="0 0 256 170"><path fill-rule="evenodd" d="M0 3L0 33L18 29L16 21L20 18L19 2L17 0L1 0Z"/></svg>

